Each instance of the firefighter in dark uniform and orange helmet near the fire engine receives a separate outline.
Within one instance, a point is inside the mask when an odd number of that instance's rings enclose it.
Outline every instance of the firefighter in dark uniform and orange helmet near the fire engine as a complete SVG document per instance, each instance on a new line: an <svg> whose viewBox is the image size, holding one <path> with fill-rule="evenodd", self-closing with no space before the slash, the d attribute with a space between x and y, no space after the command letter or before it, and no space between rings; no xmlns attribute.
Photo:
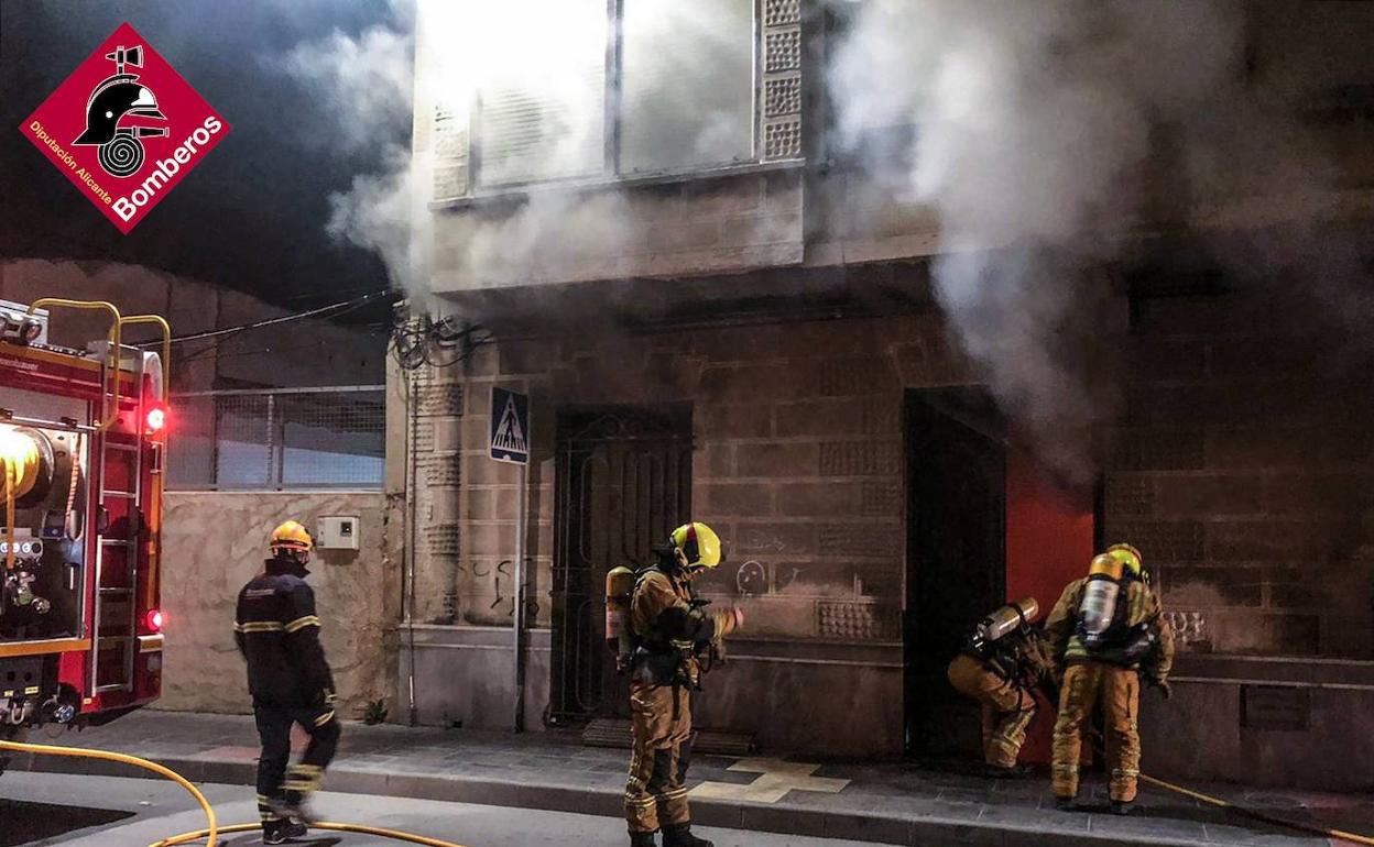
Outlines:
<svg viewBox="0 0 1374 847"><path fill-rule="evenodd" d="M334 758L339 721L334 714L334 677L320 647L315 592L305 583L315 542L304 526L287 520L272 530L264 571L239 592L234 638L247 659L249 691L262 755L257 800L262 843L301 837L315 822L309 798ZM309 736L298 765L291 758L291 725Z"/></svg>

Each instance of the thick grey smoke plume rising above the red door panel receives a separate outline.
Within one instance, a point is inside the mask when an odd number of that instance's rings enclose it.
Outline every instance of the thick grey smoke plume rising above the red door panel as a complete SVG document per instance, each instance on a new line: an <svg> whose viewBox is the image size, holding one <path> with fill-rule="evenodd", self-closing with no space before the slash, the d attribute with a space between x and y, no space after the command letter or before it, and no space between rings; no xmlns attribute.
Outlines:
<svg viewBox="0 0 1374 847"><path fill-rule="evenodd" d="M1002 404L1087 480L1116 410L1107 268L1156 224L1319 181L1248 78L1242 3L870 0L831 74L837 143L940 217L937 294ZM892 155L886 129L915 128ZM875 155L875 151L882 151Z"/></svg>

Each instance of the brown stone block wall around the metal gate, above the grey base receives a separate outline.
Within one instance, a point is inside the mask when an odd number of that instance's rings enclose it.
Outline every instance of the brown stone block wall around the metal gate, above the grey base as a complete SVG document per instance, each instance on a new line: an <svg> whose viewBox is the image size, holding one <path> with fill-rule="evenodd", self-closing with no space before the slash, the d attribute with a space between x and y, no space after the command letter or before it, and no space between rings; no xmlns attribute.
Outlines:
<svg viewBox="0 0 1374 847"><path fill-rule="evenodd" d="M502 386L532 394L528 549L541 593L554 560L558 409L686 402L692 513L728 550L702 589L750 601L756 633L897 640L903 390L967 379L960 369L937 318L893 317L513 338L422 372L416 619L508 625L502 563L514 556L519 471L486 456L491 387Z"/></svg>

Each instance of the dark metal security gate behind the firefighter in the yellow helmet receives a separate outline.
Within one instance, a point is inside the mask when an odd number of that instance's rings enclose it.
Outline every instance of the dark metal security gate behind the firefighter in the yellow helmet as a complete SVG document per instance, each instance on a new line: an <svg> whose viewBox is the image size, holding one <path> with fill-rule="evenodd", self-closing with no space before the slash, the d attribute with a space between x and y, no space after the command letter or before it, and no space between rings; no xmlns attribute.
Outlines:
<svg viewBox="0 0 1374 847"><path fill-rule="evenodd" d="M550 719L628 717L605 641L606 572L653 561L691 516L691 409L559 416Z"/></svg>

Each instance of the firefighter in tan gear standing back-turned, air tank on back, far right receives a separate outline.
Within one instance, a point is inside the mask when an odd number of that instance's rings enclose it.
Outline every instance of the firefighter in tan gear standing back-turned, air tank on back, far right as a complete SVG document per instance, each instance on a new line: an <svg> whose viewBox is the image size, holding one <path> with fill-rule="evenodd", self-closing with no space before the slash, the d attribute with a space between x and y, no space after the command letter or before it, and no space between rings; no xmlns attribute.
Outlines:
<svg viewBox="0 0 1374 847"><path fill-rule="evenodd" d="M1099 708L1112 811L1128 814L1140 777L1142 678L1165 699L1172 696L1173 633L1150 589L1140 550L1116 544L1095 556L1088 575L1063 589L1046 633L1065 669L1054 725L1055 806L1073 807L1083 732Z"/></svg>

